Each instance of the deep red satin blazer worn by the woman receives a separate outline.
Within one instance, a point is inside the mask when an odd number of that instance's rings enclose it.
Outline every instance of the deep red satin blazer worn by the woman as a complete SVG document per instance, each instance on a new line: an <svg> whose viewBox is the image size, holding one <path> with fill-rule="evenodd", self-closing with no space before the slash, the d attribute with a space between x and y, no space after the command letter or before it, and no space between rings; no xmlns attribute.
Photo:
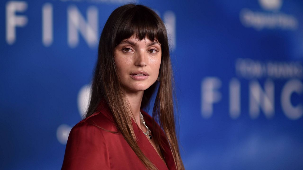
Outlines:
<svg viewBox="0 0 303 170"><path fill-rule="evenodd" d="M152 128L152 117L141 110L148 128ZM107 132L102 127L110 131L117 128L111 121L112 113L108 105L100 102L97 111L86 119L77 123L68 136L62 170L95 170L95 169L117 169L117 170L142 170L146 169L138 156L128 145L122 134ZM97 125L97 126L95 126ZM162 161L154 147L148 141L142 130L132 119L135 135L138 138L138 145L147 158L159 170L173 170L175 162L172 157L168 142L161 130L164 139L165 150L163 156L166 161ZM160 128L157 124L157 127ZM153 129L151 129L153 132Z"/></svg>

